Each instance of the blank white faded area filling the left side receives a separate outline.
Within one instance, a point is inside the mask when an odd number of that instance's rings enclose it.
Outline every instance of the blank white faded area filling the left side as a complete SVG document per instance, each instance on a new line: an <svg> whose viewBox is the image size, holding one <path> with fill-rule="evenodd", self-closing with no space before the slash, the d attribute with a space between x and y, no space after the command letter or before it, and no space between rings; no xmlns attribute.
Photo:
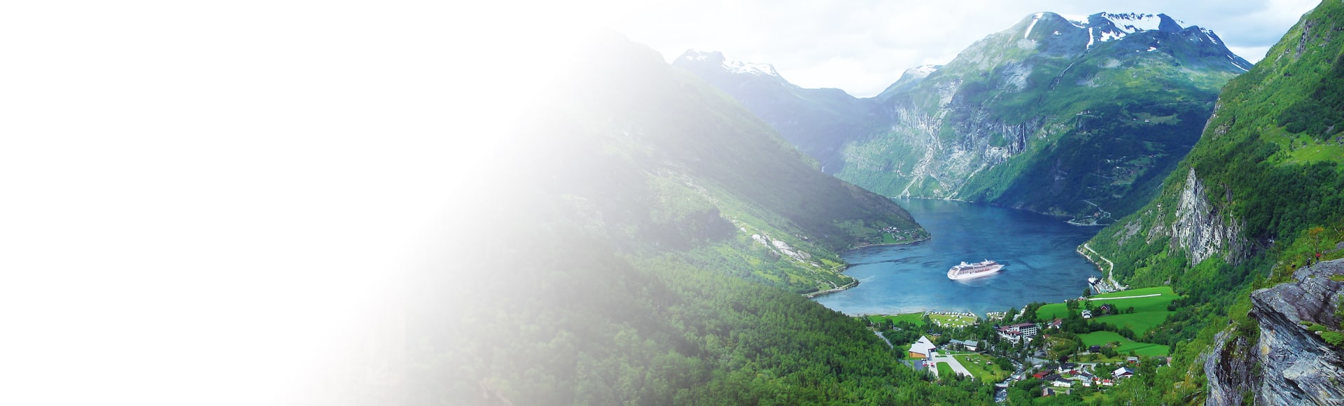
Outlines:
<svg viewBox="0 0 1344 406"><path fill-rule="evenodd" d="M321 390L556 58L430 3L22 4L0 28L0 403ZM461 24L470 22L469 24ZM517 20L513 20L517 22ZM546 26L532 26L542 30Z"/></svg>

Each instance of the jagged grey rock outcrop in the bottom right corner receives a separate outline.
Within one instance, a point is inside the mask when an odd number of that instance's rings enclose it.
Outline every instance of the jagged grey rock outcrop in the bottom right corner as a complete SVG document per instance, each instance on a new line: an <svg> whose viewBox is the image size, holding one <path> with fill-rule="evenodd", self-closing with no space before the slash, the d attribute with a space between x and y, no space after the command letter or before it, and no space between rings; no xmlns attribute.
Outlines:
<svg viewBox="0 0 1344 406"><path fill-rule="evenodd" d="M1339 405L1344 402L1341 348L1325 343L1305 323L1337 327L1335 317L1344 282L1344 259L1320 262L1293 273L1294 282L1251 293L1258 340L1219 335L1204 364L1210 405L1241 405L1246 391L1258 405ZM1250 372L1249 372L1250 371Z"/></svg>

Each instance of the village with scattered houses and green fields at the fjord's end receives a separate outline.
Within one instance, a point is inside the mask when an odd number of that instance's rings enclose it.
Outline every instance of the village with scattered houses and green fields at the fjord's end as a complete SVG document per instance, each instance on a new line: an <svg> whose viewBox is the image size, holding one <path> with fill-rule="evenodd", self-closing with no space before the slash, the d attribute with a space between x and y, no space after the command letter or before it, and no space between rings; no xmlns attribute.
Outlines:
<svg viewBox="0 0 1344 406"><path fill-rule="evenodd" d="M1149 292L1150 290L1150 292ZM1165 320L1169 288L1114 292L1020 312L922 312L862 316L898 358L930 379L977 379L1032 397L1103 397L1125 379L1171 363L1169 348L1134 341Z"/></svg>

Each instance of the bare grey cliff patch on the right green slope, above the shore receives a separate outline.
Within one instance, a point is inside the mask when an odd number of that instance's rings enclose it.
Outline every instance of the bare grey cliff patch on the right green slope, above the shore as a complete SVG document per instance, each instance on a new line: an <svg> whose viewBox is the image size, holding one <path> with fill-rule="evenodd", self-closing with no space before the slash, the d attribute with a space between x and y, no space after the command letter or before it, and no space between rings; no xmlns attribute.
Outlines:
<svg viewBox="0 0 1344 406"><path fill-rule="evenodd" d="M1188 253L1192 263L1222 254L1231 263L1246 257L1246 238L1242 237L1242 223L1219 212L1208 203L1208 188L1195 176L1191 168L1185 176L1185 187L1176 206L1176 220L1171 226L1171 246Z"/></svg>

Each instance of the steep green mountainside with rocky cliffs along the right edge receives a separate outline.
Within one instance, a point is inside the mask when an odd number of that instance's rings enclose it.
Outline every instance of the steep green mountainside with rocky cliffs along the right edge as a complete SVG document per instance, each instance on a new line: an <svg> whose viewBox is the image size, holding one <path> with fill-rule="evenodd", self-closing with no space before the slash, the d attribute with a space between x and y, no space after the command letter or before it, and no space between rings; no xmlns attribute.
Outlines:
<svg viewBox="0 0 1344 406"><path fill-rule="evenodd" d="M1169 403L1329 405L1344 390L1344 3L1230 81L1193 149L1087 249L1183 296L1141 341L1175 350ZM1181 378L1177 378L1181 376ZM1181 401L1184 399L1184 401Z"/></svg>

